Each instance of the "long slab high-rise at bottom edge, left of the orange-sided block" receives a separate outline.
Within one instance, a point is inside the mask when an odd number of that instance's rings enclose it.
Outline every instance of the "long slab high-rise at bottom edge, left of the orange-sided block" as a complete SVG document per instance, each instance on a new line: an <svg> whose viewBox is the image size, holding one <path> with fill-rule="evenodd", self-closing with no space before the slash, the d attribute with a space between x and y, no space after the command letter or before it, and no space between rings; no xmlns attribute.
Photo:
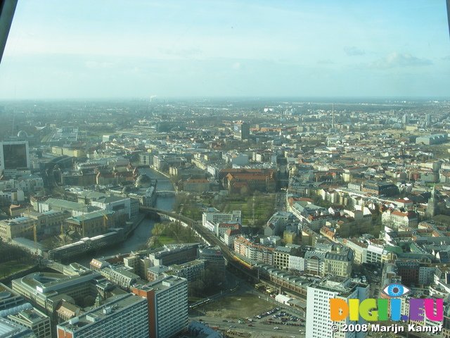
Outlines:
<svg viewBox="0 0 450 338"><path fill-rule="evenodd" d="M117 297L58 325L58 338L147 338L147 299L134 294Z"/></svg>

